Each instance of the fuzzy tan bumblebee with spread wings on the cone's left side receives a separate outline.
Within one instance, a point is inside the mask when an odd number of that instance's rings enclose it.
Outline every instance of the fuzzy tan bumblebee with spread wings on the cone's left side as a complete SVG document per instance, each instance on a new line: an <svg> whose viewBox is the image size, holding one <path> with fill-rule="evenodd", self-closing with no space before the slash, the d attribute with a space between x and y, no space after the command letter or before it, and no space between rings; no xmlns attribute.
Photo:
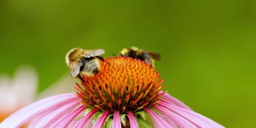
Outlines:
<svg viewBox="0 0 256 128"><path fill-rule="evenodd" d="M104 54L105 50L82 50L80 48L74 48L66 54L66 64L70 67L70 74L74 78L80 78L81 76L93 76L98 73L101 66L99 61L104 61L100 55Z"/></svg>

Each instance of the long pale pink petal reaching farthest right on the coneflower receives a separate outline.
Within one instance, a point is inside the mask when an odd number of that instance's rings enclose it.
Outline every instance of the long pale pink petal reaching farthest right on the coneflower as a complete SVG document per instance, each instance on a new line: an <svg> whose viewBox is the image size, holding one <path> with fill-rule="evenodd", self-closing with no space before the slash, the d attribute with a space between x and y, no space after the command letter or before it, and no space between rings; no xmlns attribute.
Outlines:
<svg viewBox="0 0 256 128"><path fill-rule="evenodd" d="M215 127L215 128L224 127L218 124L217 122L214 122L210 118L206 118L202 114L198 114L194 112L193 110L186 110L184 108L174 106L166 102L158 102L158 104L166 107L166 109L173 111L175 114L180 115L182 118L186 118L186 120L190 121L191 123L193 123L198 127Z"/></svg>

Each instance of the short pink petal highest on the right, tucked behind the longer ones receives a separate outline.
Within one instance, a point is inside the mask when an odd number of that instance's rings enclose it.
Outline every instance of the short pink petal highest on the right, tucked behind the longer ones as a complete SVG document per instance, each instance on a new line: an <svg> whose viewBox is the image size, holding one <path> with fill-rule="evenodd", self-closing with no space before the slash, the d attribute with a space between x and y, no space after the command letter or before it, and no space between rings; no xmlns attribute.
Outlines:
<svg viewBox="0 0 256 128"><path fill-rule="evenodd" d="M162 92L163 91L160 91L159 93L162 93ZM189 106L186 106L186 104L184 104L183 102L179 101L177 98L172 97L170 94L167 94L167 93L162 94L162 98L166 99L165 100L166 102L171 102L174 105L179 106L179 107L181 107L183 109L192 110L192 109L190 109Z"/></svg>

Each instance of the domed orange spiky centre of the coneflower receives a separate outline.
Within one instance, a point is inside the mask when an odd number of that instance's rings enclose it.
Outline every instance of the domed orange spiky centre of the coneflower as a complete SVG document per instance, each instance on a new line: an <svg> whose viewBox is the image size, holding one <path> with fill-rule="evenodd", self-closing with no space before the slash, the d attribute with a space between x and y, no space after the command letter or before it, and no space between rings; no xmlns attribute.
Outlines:
<svg viewBox="0 0 256 128"><path fill-rule="evenodd" d="M157 103L163 79L153 66L136 58L114 57L100 61L94 76L82 76L76 94L86 107L137 112Z"/></svg>

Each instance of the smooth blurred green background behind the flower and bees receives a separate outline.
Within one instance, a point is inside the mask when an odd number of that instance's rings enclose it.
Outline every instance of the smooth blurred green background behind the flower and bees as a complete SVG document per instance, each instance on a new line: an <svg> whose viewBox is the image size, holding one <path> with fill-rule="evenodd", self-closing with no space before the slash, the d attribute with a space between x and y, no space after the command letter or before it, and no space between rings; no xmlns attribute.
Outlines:
<svg viewBox="0 0 256 128"><path fill-rule="evenodd" d="M226 127L255 126L256 1L0 1L0 74L34 66L38 92L74 47L162 54L165 90ZM66 85L72 86L72 85Z"/></svg>

